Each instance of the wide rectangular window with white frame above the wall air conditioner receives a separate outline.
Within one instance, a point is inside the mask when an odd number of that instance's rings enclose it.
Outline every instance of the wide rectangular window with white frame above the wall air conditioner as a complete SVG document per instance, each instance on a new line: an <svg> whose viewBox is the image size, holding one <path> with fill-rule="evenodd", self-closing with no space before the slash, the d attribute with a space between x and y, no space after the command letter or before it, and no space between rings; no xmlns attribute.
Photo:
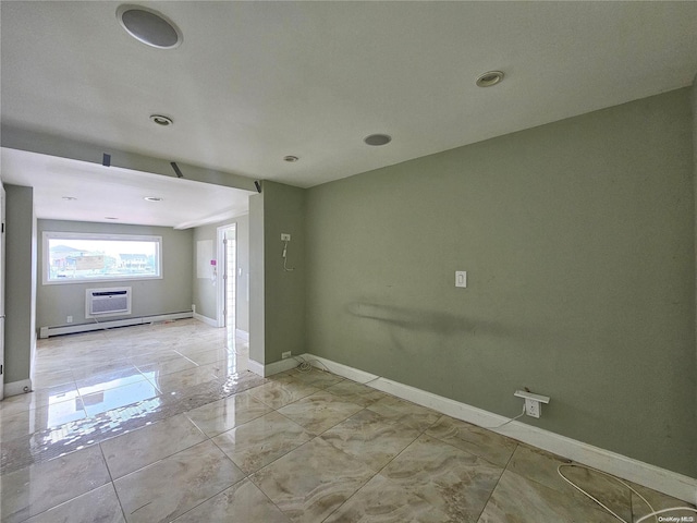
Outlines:
<svg viewBox="0 0 697 523"><path fill-rule="evenodd" d="M162 278L162 238L44 233L44 284Z"/></svg>

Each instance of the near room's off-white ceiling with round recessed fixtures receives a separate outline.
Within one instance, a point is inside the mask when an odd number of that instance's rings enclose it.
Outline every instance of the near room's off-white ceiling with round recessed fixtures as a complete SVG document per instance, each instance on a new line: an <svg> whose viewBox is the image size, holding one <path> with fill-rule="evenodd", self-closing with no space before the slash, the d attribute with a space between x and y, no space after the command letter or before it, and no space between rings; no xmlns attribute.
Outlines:
<svg viewBox="0 0 697 523"><path fill-rule="evenodd" d="M140 2L181 28L171 50L129 36L120 3L1 2L4 124L308 187L697 73L695 1ZM489 70L504 82L477 87Z"/></svg>

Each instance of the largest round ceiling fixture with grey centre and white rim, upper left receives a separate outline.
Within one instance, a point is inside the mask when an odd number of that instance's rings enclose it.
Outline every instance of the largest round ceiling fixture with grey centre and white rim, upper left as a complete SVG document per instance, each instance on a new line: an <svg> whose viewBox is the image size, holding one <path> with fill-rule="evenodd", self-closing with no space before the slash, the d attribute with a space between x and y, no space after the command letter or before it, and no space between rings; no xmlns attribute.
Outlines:
<svg viewBox="0 0 697 523"><path fill-rule="evenodd" d="M173 49L182 44L182 32L167 16L143 5L120 5L117 19L121 27L143 44Z"/></svg>

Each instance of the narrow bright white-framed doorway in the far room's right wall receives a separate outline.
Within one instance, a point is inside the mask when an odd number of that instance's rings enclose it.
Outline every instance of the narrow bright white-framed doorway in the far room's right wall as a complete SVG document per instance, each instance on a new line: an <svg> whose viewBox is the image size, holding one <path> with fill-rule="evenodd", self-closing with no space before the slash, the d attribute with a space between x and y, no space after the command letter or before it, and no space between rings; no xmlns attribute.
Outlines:
<svg viewBox="0 0 697 523"><path fill-rule="evenodd" d="M218 228L218 327L225 328L228 349L235 349L237 229L232 223Z"/></svg>

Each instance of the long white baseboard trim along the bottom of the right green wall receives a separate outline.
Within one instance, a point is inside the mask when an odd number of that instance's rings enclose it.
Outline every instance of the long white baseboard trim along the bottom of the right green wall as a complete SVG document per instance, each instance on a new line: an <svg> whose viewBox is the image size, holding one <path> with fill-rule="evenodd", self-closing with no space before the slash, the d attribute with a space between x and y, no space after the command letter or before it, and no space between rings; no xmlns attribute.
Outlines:
<svg viewBox="0 0 697 523"><path fill-rule="evenodd" d="M338 376L366 384L368 387L474 425L490 427L508 421L506 417L492 412L477 409L476 406L467 405L466 403L437 396L415 387L409 387L408 385L381 378L377 375L332 362L325 357L315 356L314 354L303 354L302 357L317 368L323 368ZM267 365L267 367L269 365ZM608 474L638 483L639 485L669 496L697 503L697 478L644 463L633 458L627 458L626 455L521 422L511 422L501 428L490 430L547 450L548 452L568 458L578 463L607 472Z"/></svg>

